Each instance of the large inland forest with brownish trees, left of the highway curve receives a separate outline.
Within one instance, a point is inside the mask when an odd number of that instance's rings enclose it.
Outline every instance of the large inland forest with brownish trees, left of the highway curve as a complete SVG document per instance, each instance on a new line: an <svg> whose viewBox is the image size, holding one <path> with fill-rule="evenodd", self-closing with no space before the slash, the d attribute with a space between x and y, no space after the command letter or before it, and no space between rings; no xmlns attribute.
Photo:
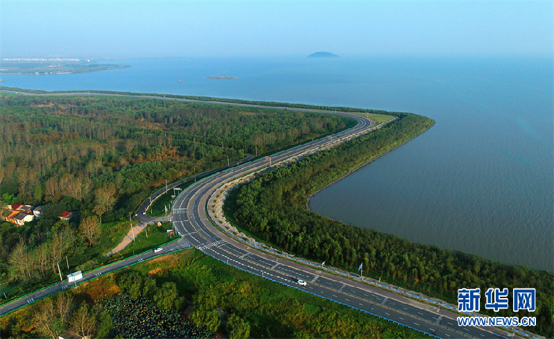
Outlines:
<svg viewBox="0 0 554 339"><path fill-rule="evenodd" d="M0 225L1 280L19 283L8 295L53 282L58 261L77 267L109 251L128 231L129 214L166 181L354 123L151 98L1 94L0 208L44 207L23 227ZM60 220L66 210L75 217Z"/></svg>

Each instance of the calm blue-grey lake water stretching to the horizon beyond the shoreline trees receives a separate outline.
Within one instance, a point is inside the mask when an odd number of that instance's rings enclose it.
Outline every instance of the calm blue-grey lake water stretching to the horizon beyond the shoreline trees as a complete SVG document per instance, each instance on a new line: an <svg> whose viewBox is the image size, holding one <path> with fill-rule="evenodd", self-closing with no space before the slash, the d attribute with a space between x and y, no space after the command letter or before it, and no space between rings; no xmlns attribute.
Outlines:
<svg viewBox="0 0 554 339"><path fill-rule="evenodd" d="M183 58L117 63L132 68L2 76L1 85L424 114L435 119L435 127L321 191L311 199L311 208L419 243L554 271L552 60Z"/></svg>

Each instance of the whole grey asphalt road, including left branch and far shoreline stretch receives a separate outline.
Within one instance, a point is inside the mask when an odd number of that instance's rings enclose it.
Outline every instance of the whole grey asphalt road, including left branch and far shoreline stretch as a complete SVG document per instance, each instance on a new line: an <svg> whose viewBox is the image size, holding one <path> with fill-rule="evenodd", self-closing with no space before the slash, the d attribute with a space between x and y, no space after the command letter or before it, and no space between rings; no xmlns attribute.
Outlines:
<svg viewBox="0 0 554 339"><path fill-rule="evenodd" d="M15 92L9 90L1 90L0 92ZM17 94L26 94L24 92L15 92ZM83 95L83 93L79 93ZM31 94L31 95L52 95L52 94ZM71 95L71 94L55 94L55 95ZM94 94L94 95L110 95L114 94ZM115 94L115 96L129 96ZM146 98L139 96L139 98ZM192 101L186 99L162 98L153 96L152 98ZM218 105L236 105L236 106L254 106L235 103L219 103ZM257 106L263 107L263 106ZM284 107L267 107L277 110L286 110ZM308 109L291 109L303 112L325 112L321 110ZM358 124L354 128L339 132L331 137L318 139L308 144L296 146L289 150L276 153L271 156L272 164L282 162L286 159L302 155L318 148L331 146L336 141L345 140L368 132L372 128L372 121L365 119L362 116L355 114L347 114L342 112L325 112L329 114L339 114L349 116L356 119ZM381 318L397 322L406 327L410 327L417 331L422 331L438 338L508 338L508 332L494 327L459 327L456 322L455 313L444 308L424 304L414 299L404 297L392 293L390 290L383 290L374 286L369 286L362 281L354 281L346 277L338 277L331 275L327 270L319 269L317 266L305 266L297 261L290 261L282 257L263 252L255 247L250 247L245 243L238 241L236 238L221 232L216 228L207 215L207 202L211 195L223 184L241 177L247 173L257 171L260 168L268 166L265 159L257 159L254 162L248 162L235 168L228 168L220 171L220 168L210 171L213 175L206 177L199 182L189 186L175 199L173 203L173 227L180 234L181 238L171 244L165 245L163 252L155 254L146 252L136 257L125 259L110 266L87 272L83 275L83 280L93 279L107 272L112 272L120 268L130 266L134 263L157 257L160 254L166 254L175 250L180 250L189 246L196 247L198 250L214 257L220 261L228 263L236 268L251 272L252 274L277 281L281 284L298 288L307 293L318 295L327 299L334 300L340 304L345 304L352 308L359 309L366 313L379 316ZM220 172L217 172L220 171ZM205 173L203 173L205 174ZM190 178L189 178L190 180ZM181 182L172 184L168 187L180 184ZM165 189L165 188L164 188ZM153 200L159 193L164 191L160 189ZM148 222L151 218L144 216L141 212L148 206L148 202L137 211L137 219L139 221ZM302 279L307 281L306 286L300 286L297 281ZM79 282L81 282L79 281ZM26 295L13 302L4 304L0 307L0 315L15 311L26 304L35 302L37 299L46 297L53 293L59 292L64 288L68 288L71 284L67 281L62 281L59 284L49 286L30 295Z"/></svg>

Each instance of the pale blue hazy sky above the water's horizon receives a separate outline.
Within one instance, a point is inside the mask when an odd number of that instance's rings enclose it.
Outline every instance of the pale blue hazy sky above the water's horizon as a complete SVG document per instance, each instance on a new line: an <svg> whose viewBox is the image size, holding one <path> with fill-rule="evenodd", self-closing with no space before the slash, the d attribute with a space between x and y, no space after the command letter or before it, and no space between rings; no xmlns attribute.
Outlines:
<svg viewBox="0 0 554 339"><path fill-rule="evenodd" d="M0 57L552 57L554 1L0 0Z"/></svg>

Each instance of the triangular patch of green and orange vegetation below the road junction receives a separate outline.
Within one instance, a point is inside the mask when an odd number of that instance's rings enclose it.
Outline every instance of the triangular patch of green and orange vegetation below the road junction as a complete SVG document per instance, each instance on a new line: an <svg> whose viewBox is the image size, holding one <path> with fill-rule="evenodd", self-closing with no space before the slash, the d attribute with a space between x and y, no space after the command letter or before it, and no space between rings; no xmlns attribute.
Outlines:
<svg viewBox="0 0 554 339"><path fill-rule="evenodd" d="M3 316L0 331L6 338L429 338L198 250L68 288Z"/></svg>

